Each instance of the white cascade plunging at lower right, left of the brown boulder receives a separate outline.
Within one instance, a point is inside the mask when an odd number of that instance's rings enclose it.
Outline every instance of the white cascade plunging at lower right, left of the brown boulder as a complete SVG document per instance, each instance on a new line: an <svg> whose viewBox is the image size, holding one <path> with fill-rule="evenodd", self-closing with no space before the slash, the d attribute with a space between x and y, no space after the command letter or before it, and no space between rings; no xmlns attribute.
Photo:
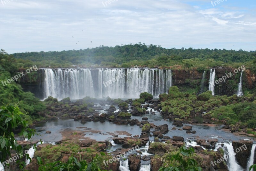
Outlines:
<svg viewBox="0 0 256 171"><path fill-rule="evenodd" d="M221 144L223 144L224 146L222 147ZM221 147L224 150L223 157L225 158L229 171L244 170L236 161L236 153L234 152L232 142L227 141L224 143L217 143L215 145L214 151L217 151L219 147Z"/></svg>

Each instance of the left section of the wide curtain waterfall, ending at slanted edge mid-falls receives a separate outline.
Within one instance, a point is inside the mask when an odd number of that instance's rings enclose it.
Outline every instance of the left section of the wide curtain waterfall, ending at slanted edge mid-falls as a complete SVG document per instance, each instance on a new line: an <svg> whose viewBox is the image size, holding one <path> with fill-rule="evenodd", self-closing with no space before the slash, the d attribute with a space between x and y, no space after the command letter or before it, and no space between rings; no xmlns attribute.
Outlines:
<svg viewBox="0 0 256 171"><path fill-rule="evenodd" d="M44 69L44 97L81 99L94 97L90 69Z"/></svg>

